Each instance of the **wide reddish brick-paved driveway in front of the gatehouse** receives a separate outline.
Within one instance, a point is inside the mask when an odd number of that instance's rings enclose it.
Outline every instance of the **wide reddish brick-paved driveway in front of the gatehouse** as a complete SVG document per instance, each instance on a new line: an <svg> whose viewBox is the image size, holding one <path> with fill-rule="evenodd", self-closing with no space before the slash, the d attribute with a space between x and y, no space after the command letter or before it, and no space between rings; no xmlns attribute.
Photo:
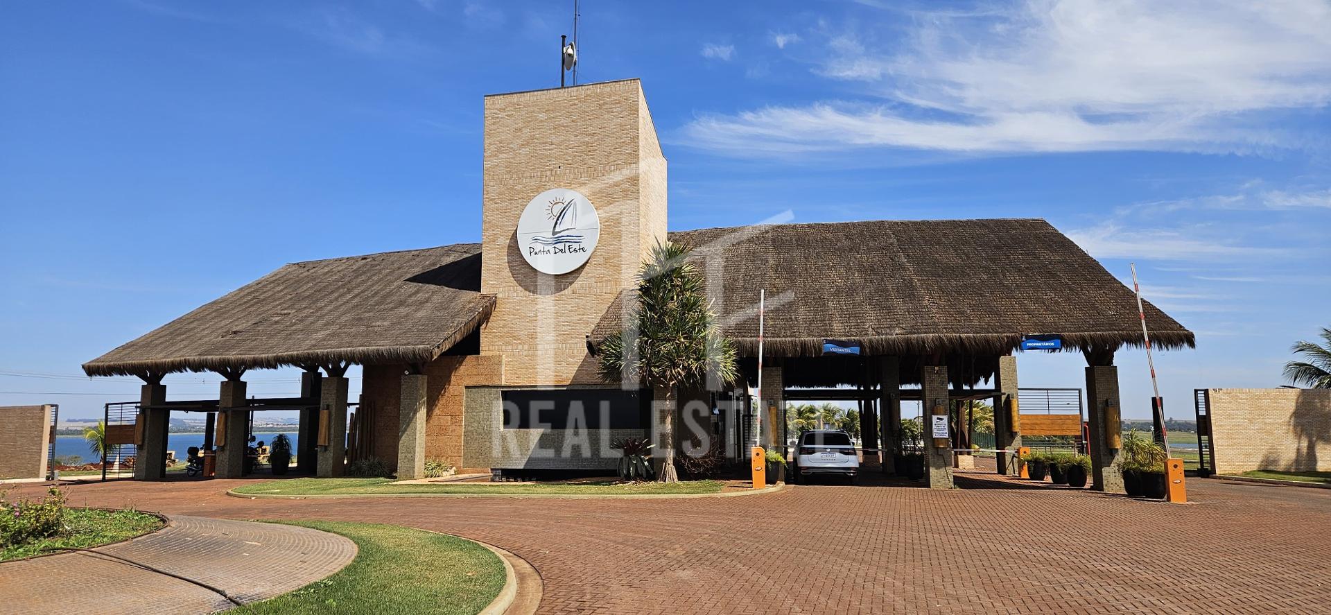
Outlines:
<svg viewBox="0 0 1331 615"><path fill-rule="evenodd" d="M544 612L1331 612L1326 490L1191 479L1194 503L1171 506L962 475L969 489L677 501L221 495L234 485L85 485L71 501L461 534L535 564Z"/></svg>

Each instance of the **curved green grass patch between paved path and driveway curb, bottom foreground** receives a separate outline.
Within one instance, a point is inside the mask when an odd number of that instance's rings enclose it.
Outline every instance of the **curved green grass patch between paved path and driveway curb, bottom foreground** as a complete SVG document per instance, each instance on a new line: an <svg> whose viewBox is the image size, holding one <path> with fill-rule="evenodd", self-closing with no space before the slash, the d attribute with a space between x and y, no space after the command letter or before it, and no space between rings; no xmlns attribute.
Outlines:
<svg viewBox="0 0 1331 615"><path fill-rule="evenodd" d="M470 540L374 523L291 524L341 534L359 551L327 579L228 614L474 614L503 590L503 562Z"/></svg>

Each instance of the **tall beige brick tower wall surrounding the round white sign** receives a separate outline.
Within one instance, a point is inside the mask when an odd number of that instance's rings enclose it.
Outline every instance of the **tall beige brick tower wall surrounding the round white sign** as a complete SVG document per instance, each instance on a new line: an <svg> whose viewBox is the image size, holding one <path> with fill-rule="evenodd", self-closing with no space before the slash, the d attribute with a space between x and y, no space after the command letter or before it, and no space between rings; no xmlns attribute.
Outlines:
<svg viewBox="0 0 1331 615"><path fill-rule="evenodd" d="M482 293L496 296L480 354L511 385L599 383L584 337L666 238L666 158L638 80L486 97ZM540 274L516 246L527 202L587 196L600 238L582 269Z"/></svg>

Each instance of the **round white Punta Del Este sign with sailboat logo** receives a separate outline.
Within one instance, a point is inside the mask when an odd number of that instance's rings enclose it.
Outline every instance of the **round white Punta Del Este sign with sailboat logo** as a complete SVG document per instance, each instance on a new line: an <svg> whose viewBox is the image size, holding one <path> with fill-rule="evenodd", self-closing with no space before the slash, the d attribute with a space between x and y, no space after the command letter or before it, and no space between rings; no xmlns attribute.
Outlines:
<svg viewBox="0 0 1331 615"><path fill-rule="evenodd" d="M583 266L600 238L600 217L578 190L536 194L518 218L518 249L532 269L558 276Z"/></svg>

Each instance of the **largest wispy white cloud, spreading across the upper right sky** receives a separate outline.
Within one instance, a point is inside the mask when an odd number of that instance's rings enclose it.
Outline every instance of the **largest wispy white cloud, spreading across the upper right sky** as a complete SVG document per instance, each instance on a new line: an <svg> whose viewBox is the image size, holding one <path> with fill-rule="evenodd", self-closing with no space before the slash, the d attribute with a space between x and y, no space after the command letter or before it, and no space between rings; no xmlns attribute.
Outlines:
<svg viewBox="0 0 1331 615"><path fill-rule="evenodd" d="M878 29L828 33L815 68L858 84L862 100L703 116L681 141L759 154L1247 153L1304 145L1267 114L1331 101L1320 0L1030 0L917 15L905 45L880 43Z"/></svg>

